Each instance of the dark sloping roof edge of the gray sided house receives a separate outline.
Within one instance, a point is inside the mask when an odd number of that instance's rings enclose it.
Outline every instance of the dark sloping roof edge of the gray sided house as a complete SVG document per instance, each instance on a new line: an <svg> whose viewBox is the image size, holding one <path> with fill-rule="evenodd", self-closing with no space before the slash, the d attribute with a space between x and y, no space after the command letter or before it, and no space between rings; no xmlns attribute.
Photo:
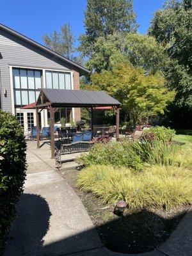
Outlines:
<svg viewBox="0 0 192 256"><path fill-rule="evenodd" d="M39 44L38 42L28 38L27 36L24 36L22 34L20 34L19 32L11 29L11 28L8 28L7 26L4 26L3 24L0 23L0 28L3 29L4 31L14 35L14 36L17 36L17 38L20 38L26 42L28 42L29 44L31 45L35 45L35 47L45 51L45 52L48 52L49 54L52 54L54 57L62 60L62 61L65 61L66 63L70 64L70 65L73 65L74 67L77 67L79 69L79 73L80 75L84 75L84 74L89 74L90 71L86 68L84 68L83 66L77 64L76 62L72 61L72 60L68 60L68 58L65 58L63 56L61 56L60 54L58 54L57 52L54 52L52 51L51 49L45 47L44 45L42 44Z"/></svg>

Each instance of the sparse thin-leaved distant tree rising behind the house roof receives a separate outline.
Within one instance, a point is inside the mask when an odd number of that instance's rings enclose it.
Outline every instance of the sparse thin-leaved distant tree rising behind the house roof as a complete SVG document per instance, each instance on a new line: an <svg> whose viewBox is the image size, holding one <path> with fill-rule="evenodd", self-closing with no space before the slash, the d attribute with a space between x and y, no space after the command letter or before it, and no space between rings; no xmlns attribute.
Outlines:
<svg viewBox="0 0 192 256"><path fill-rule="evenodd" d="M58 52L70 60L74 58L74 52L76 51L74 43L76 40L70 24L66 23L61 26L60 31L54 30L50 35L45 34L43 40L52 51Z"/></svg>

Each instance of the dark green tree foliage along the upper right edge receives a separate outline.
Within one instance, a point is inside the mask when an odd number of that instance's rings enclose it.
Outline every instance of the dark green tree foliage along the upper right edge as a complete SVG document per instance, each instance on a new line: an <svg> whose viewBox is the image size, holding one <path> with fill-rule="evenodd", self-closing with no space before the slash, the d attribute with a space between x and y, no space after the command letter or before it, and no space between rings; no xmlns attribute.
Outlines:
<svg viewBox="0 0 192 256"><path fill-rule="evenodd" d="M155 13L149 35L164 45L170 60L165 76L170 88L175 88L175 103L192 107L192 7L191 1L167 1L163 10Z"/></svg>

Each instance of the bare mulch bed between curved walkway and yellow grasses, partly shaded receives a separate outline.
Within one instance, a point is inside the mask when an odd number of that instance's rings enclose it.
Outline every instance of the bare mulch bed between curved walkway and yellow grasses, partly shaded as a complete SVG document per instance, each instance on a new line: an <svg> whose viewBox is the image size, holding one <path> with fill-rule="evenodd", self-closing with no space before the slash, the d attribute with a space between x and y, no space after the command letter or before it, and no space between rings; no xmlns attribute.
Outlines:
<svg viewBox="0 0 192 256"><path fill-rule="evenodd" d="M78 171L62 171L62 177L76 191L97 228L102 244L113 252L144 253L163 244L172 234L188 207L174 211L145 209L139 212L126 210L124 216L113 213L92 193L84 193L76 186Z"/></svg>

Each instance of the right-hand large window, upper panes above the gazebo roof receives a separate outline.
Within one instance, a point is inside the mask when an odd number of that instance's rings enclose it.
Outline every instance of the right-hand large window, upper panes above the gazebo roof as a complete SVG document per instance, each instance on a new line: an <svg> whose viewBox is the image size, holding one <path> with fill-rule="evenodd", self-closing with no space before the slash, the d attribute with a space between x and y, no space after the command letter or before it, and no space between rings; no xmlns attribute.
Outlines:
<svg viewBox="0 0 192 256"><path fill-rule="evenodd" d="M45 71L46 88L51 89L72 89L71 77L68 72Z"/></svg>

